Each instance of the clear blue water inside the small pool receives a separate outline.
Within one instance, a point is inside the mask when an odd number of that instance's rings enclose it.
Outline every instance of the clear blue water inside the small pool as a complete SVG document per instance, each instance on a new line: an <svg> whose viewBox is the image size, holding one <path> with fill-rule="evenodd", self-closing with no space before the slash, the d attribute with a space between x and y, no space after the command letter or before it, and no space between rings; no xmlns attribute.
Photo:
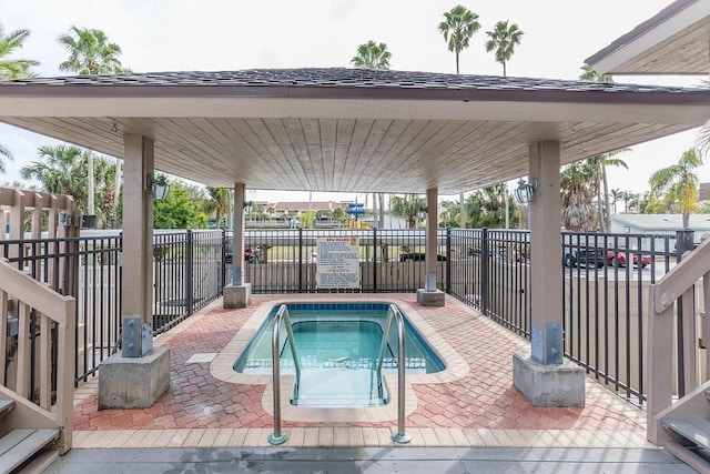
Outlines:
<svg viewBox="0 0 710 474"><path fill-rule="evenodd" d="M296 353L301 362L295 405L376 406L388 402L376 379L377 357L387 324L387 303L287 304ZM234 370L271 374L271 332L275 306L262 323ZM294 373L285 326L280 329L281 370ZM405 317L406 372L435 373L444 363ZM383 357L383 374L397 372L397 331L393 322Z"/></svg>

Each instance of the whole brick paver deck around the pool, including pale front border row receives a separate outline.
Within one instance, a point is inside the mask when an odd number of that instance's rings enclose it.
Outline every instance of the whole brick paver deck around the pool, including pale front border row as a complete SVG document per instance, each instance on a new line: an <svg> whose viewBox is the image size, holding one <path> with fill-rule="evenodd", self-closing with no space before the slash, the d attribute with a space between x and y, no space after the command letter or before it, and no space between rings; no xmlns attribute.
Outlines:
<svg viewBox="0 0 710 474"><path fill-rule="evenodd" d="M406 418L410 445L652 447L646 442L645 412L592 379L587 380L584 409L531 406L513 385L513 354L529 351L529 342L453 297L447 296L444 307L423 307L413 294L327 296L415 307L428 331L468 364L468 372L455 380L413 384L416 407ZM77 390L74 447L268 446L273 416L264 409L266 385L226 382L211 373L210 362L187 360L223 351L264 303L317 297L254 296L244 310L212 304L156 340L170 347L172 370L169 391L152 407L99 411L95 380ZM397 422L317 416L296 422L284 416L283 426L290 446L393 446Z"/></svg>

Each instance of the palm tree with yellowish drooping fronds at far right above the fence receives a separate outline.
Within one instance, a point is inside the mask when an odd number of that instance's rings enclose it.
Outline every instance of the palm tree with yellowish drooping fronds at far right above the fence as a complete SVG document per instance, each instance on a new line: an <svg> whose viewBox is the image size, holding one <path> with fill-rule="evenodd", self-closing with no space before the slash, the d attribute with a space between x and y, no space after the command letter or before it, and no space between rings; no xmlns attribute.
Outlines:
<svg viewBox="0 0 710 474"><path fill-rule="evenodd" d="M658 198L665 193L680 208L683 229L690 226L690 213L698 203L697 170L700 167L702 167L700 152L691 148L683 152L678 163L656 171L648 181L652 196Z"/></svg>

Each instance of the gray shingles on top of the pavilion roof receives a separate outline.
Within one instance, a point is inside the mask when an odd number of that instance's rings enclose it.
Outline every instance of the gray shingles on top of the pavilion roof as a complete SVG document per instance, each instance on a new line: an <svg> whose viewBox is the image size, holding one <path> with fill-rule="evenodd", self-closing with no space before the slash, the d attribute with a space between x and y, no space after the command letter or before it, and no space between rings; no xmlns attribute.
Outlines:
<svg viewBox="0 0 710 474"><path fill-rule="evenodd" d="M505 78L498 75L444 74L436 72L381 71L346 68L252 69L244 71L144 72L109 75L68 75L0 81L8 85L141 85L141 87L287 87L287 88L365 88L425 90L495 91L597 91L704 93L706 90L599 83L556 79Z"/></svg>

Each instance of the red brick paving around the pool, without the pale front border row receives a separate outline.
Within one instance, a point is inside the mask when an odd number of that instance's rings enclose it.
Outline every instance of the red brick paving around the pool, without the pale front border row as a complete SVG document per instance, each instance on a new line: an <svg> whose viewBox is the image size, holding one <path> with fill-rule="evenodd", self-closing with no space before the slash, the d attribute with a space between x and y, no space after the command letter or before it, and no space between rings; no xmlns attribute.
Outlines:
<svg viewBox="0 0 710 474"><path fill-rule="evenodd" d="M328 295L332 296L332 295ZM255 296L244 310L213 309L187 321L163 342L171 350L171 384L158 403L144 410L98 411L97 395L74 406L74 430L271 427L273 417L261 405L265 385L232 384L214 379L209 363L185 364L196 353L220 352L264 302L283 296ZM344 295L346 297L346 295ZM352 296L349 296L352 299ZM587 391L584 409L538 409L513 386L513 354L529 343L511 337L470 310L448 304L416 305L416 296L393 295L417 312L470 365L465 377L443 384L415 384L418 406L407 420L413 427L510 430L640 430L608 396ZM159 340L159 344L161 341ZM602 400L604 399L604 400ZM284 426L389 427L387 423L288 423Z"/></svg>

